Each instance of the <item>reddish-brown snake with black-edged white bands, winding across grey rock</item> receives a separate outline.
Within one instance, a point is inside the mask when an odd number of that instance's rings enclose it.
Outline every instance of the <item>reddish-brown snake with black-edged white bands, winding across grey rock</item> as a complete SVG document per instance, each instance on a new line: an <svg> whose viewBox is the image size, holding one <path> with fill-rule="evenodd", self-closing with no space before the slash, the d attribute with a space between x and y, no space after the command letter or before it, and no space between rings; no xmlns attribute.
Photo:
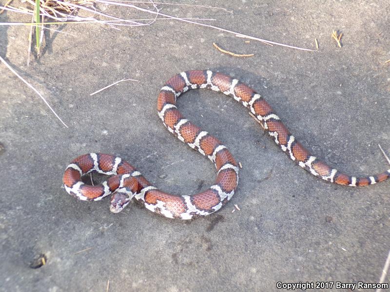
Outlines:
<svg viewBox="0 0 390 292"><path fill-rule="evenodd" d="M82 201L99 201L111 196L110 211L118 213L135 198L147 209L167 218L193 219L218 211L232 199L238 184L239 164L217 138L187 120L177 109L176 99L193 89L209 89L233 97L270 135L280 149L309 173L330 183L366 186L386 181L390 169L366 177L350 176L317 159L290 133L268 102L251 87L224 73L193 70L169 79L159 91L157 112L164 126L180 141L207 156L216 168L216 180L195 195L165 193L149 183L127 161L109 154L88 153L74 159L65 169L63 185L67 193ZM98 185L83 183L90 172L109 175Z"/></svg>

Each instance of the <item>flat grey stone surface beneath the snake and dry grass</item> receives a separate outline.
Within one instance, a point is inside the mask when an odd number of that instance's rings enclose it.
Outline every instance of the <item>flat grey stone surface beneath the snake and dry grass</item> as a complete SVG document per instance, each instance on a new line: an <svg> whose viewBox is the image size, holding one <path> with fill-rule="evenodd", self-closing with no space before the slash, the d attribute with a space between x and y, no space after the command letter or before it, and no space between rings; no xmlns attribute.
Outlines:
<svg viewBox="0 0 390 292"><path fill-rule="evenodd" d="M244 108L212 91L186 93L178 107L243 166L236 195L219 212L181 221L132 203L116 215L108 200L76 201L61 187L66 165L88 152L120 156L172 193L194 194L213 183L210 162L169 134L156 113L169 77L205 68L254 87L295 137L332 166L354 175L389 167L377 146L390 152L389 2L254 2L213 1L234 14L182 6L163 12L215 18L217 26L302 47L314 48L317 38L320 50L247 44L173 20L121 31L63 25L75 36L48 33L43 55L27 67L29 28L0 26L0 55L69 126L0 65L0 291L106 291L108 280L109 291L146 292L379 281L390 250L390 183L349 188L314 178ZM8 12L0 20L30 17ZM332 30L343 33L342 48ZM212 42L255 56L223 55ZM122 78L141 82L89 95ZM234 204L241 211L232 213ZM40 255L46 265L30 268Z"/></svg>

